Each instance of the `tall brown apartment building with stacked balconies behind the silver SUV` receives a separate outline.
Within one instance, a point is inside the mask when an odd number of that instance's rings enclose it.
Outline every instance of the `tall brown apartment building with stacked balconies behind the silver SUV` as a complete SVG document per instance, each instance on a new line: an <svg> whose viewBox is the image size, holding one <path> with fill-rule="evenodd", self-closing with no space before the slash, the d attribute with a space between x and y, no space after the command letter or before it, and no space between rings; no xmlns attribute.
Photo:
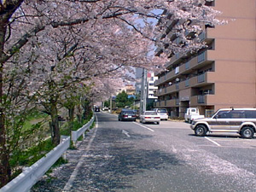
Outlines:
<svg viewBox="0 0 256 192"><path fill-rule="evenodd" d="M256 2L215 0L208 5L229 23L205 26L200 38L207 49L172 55L166 71L157 74L154 107L167 108L171 116L183 117L189 107L206 116L218 108L256 107ZM168 37L178 41L172 33Z"/></svg>

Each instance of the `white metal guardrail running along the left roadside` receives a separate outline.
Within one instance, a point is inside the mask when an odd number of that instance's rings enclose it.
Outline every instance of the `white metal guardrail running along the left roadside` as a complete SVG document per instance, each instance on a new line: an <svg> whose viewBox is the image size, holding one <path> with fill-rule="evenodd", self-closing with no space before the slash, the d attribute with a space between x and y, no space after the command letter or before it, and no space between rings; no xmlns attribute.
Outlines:
<svg viewBox="0 0 256 192"><path fill-rule="evenodd" d="M90 121L78 131L72 131L73 142L76 142L81 135L84 137L84 132L90 128L90 125L92 125L94 119L95 115L93 115ZM57 147L52 149L48 154L46 154L32 166L27 167L25 171L21 172L18 177L15 177L12 181L4 185L3 188L0 189L0 192L29 191L32 186L38 182L39 178L42 177L44 173L55 164L61 155L65 154L69 146L70 137L65 137Z"/></svg>

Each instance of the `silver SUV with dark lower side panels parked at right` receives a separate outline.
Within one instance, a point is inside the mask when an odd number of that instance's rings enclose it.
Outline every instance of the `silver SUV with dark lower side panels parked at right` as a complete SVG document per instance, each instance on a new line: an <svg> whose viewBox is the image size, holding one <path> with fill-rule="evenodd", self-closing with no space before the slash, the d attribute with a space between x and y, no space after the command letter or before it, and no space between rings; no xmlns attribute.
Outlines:
<svg viewBox="0 0 256 192"><path fill-rule="evenodd" d="M256 108L223 108L212 118L195 119L190 125L196 136L207 132L237 132L243 138L253 138L256 131Z"/></svg>

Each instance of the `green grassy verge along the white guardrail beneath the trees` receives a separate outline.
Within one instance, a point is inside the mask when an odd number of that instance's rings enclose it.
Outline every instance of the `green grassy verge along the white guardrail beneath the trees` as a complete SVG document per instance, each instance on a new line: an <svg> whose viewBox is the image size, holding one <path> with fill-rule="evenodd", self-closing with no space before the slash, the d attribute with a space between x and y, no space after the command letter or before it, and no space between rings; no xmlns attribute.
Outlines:
<svg viewBox="0 0 256 192"><path fill-rule="evenodd" d="M79 122L77 119L75 119L72 131L79 130L79 128L90 121L92 115L93 113L91 112L89 117L84 119L83 122ZM28 141L22 141L22 144L26 147L17 148L11 154L9 163L12 167L12 178L18 176L22 172L22 168L32 166L35 162L44 157L45 154L49 153L50 150L55 148L55 146L53 146L51 143L49 116L47 114L39 112L32 113L32 115L26 119L22 129L23 131L30 131L33 129L33 125L37 125L40 122L44 123L40 126L39 130L36 131L34 135L28 139ZM67 122L63 122L60 131L61 135L70 136L70 128L68 127ZM40 134L40 137L38 137L38 134ZM37 141L34 140L36 137L38 137ZM79 137L80 141L82 139L83 137ZM63 163L67 163L67 161L60 158L55 162L54 166L60 166ZM49 174L49 172L47 174Z"/></svg>

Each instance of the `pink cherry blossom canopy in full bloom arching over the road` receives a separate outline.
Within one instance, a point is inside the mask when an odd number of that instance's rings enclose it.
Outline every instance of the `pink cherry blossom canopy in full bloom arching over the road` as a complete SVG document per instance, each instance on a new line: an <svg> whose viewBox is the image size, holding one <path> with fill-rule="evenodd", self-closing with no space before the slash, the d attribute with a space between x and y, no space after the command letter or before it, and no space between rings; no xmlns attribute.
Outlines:
<svg viewBox="0 0 256 192"><path fill-rule="evenodd" d="M155 9L163 11L155 14ZM215 18L218 11L204 0L5 0L0 1L0 13L0 186L11 176L7 114L15 119L20 113L10 113L7 101L14 101L6 99L9 70L26 72L24 83L14 81L15 93L25 101L20 108L32 108L27 103L37 96L57 132L57 107L71 84L125 77L131 67L161 66L165 59L148 57L152 44L165 48L166 55L200 49L204 45L187 38L186 32L221 24ZM171 18L177 20L175 28L170 28ZM162 36L170 30L183 39L182 46Z"/></svg>

